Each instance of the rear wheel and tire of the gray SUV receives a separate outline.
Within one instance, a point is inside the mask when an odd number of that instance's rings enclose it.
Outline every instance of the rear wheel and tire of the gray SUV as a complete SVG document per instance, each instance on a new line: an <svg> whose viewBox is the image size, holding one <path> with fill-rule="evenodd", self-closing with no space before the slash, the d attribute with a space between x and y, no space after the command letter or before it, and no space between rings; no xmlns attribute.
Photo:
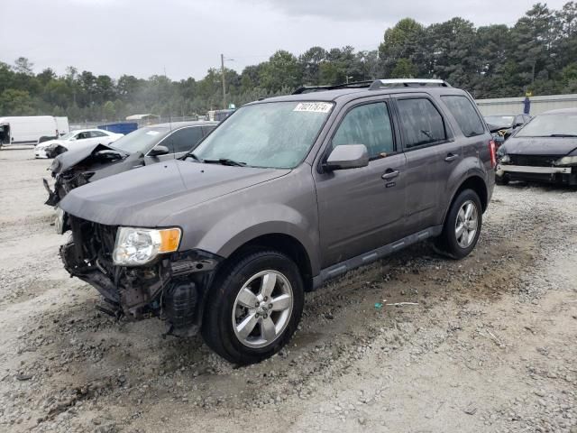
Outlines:
<svg viewBox="0 0 577 433"><path fill-rule="evenodd" d="M469 209L471 205L471 216L460 214L461 210ZM461 230L461 235L457 235L457 229L463 222L463 217L471 218L465 219L465 225ZM476 218L475 218L476 217ZM474 233L473 219L475 221ZM482 207L479 195L472 189L463 189L459 195L453 200L451 208L444 220L443 232L436 239L435 246L441 253L453 259L463 259L472 252L473 248L479 240L482 226ZM468 237L464 237L468 236Z"/></svg>

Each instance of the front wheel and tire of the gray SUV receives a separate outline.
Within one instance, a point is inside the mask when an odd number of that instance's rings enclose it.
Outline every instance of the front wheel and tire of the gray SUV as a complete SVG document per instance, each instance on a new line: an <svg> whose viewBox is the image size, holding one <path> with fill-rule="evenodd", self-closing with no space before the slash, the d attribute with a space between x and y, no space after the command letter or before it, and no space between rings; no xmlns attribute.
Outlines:
<svg viewBox="0 0 577 433"><path fill-rule="evenodd" d="M269 358L297 330L304 285L297 265L283 253L239 256L219 272L210 291L201 333L206 345L231 363Z"/></svg>

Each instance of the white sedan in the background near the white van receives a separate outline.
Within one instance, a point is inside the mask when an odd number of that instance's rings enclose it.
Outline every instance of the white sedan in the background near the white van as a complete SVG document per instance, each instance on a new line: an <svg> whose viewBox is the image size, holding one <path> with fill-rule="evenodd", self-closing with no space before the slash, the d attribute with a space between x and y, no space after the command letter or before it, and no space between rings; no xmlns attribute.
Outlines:
<svg viewBox="0 0 577 433"><path fill-rule="evenodd" d="M124 134L115 134L104 129L78 129L62 135L58 139L37 144L34 147L34 156L36 158L54 158L78 144L108 145L114 143L122 136Z"/></svg>

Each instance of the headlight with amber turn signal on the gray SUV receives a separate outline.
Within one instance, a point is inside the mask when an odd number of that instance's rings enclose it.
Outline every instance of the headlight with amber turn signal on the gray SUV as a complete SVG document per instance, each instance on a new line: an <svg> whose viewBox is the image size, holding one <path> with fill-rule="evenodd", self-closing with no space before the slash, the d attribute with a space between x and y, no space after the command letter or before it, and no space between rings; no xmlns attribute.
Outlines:
<svg viewBox="0 0 577 433"><path fill-rule="evenodd" d="M120 227L114 244L114 264L138 266L154 260L160 253L179 249L180 229Z"/></svg>

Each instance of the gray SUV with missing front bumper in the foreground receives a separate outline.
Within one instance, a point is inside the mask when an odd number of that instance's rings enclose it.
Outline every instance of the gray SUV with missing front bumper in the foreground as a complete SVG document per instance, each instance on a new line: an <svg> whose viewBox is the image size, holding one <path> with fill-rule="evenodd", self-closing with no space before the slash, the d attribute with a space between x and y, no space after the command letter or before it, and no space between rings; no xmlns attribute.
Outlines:
<svg viewBox="0 0 577 433"><path fill-rule="evenodd" d="M106 312L255 363L289 341L305 291L427 238L471 253L495 163L472 98L444 81L300 89L180 160L70 191L60 254Z"/></svg>

